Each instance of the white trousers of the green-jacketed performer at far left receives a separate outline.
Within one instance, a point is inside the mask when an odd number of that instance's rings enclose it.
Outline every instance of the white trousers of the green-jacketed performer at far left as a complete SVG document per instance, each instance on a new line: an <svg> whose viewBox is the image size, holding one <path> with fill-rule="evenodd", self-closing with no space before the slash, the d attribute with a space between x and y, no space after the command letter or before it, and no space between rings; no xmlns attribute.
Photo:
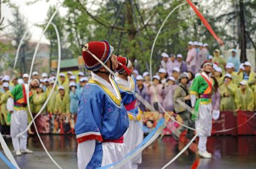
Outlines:
<svg viewBox="0 0 256 169"><path fill-rule="evenodd" d="M13 111L11 114L11 140L15 151L26 150L27 148L27 132L16 137L24 131L28 126L28 114L25 110Z"/></svg>

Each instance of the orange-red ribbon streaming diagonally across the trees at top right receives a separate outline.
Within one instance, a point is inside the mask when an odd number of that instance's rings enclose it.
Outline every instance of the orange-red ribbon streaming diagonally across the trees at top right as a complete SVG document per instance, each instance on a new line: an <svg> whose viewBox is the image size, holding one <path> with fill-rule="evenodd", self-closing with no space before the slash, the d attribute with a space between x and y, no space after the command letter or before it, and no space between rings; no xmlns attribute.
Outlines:
<svg viewBox="0 0 256 169"><path fill-rule="evenodd" d="M205 25L205 27L207 28L207 30L212 34L212 36L217 40L217 42L220 44L220 46L224 45L224 42L215 34L214 30L212 30L211 25L208 23L208 21L205 19L205 17L203 17L203 15L201 14L201 12L197 9L197 7L195 7L195 5L190 1L187 0L187 3L189 3L189 5L193 8L193 10L195 11L195 13L197 13L197 16L201 19L201 21L203 22L203 25Z"/></svg>

